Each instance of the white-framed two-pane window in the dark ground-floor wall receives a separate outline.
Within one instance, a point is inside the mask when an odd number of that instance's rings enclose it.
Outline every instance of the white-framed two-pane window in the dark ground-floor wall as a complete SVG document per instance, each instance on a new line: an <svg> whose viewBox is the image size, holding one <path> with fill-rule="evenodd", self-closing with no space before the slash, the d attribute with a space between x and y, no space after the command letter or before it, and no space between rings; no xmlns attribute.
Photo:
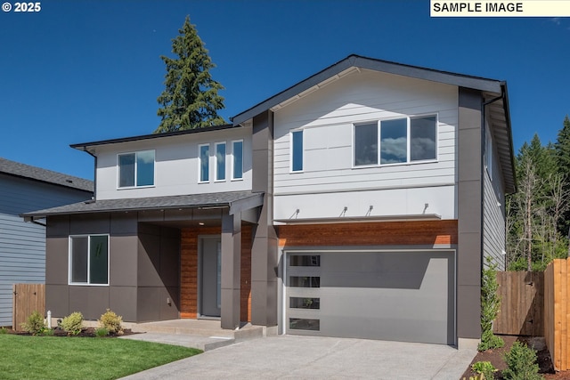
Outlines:
<svg viewBox="0 0 570 380"><path fill-rule="evenodd" d="M109 235L69 237L69 284L109 285Z"/></svg>

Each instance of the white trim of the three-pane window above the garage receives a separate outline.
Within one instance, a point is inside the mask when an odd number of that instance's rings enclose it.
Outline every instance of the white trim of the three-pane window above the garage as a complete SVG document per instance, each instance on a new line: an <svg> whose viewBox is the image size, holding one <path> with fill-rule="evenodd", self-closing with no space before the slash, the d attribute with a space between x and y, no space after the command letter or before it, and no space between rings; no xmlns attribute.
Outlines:
<svg viewBox="0 0 570 380"><path fill-rule="evenodd" d="M411 160L411 119L414 118L421 118L421 117L436 117L436 158L429 158L429 159L421 159L421 160ZM381 123L383 121L390 121L390 120L398 120L398 119L406 119L407 127L406 127L406 161L405 162L396 162L393 164L382 164L381 163L381 155L382 155L382 147L380 141L382 139L382 128ZM378 128L378 158L376 164L370 165L356 165L356 126L357 125L366 125L366 124L373 124L377 123ZM379 119L372 119L372 120L362 120L358 122L352 123L353 128L353 146L352 146L352 168L353 169L362 169L362 168L371 168L371 167L385 167L385 166L408 166L408 165L418 165L418 164L429 164L429 163L436 163L439 162L439 114L438 113L426 113L426 114L417 114L413 116L403 116L403 117L385 117Z"/></svg>

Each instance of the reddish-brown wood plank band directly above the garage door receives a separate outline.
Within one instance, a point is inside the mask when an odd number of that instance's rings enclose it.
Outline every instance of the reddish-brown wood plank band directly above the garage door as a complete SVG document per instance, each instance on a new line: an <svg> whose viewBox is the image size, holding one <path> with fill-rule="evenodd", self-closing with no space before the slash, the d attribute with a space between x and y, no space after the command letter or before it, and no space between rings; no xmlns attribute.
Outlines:
<svg viewBox="0 0 570 380"><path fill-rule="evenodd" d="M457 244L457 221L360 222L277 226L280 247Z"/></svg>

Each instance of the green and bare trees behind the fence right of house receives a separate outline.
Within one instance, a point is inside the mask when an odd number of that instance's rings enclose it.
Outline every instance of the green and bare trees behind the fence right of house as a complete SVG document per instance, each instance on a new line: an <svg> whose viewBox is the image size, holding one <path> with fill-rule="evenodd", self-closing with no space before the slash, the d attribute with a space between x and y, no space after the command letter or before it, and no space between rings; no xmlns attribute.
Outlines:
<svg viewBox="0 0 570 380"><path fill-rule="evenodd" d="M537 134L516 158L517 193L507 198L507 260L512 271L542 271L568 255L570 217L570 120L556 143Z"/></svg>

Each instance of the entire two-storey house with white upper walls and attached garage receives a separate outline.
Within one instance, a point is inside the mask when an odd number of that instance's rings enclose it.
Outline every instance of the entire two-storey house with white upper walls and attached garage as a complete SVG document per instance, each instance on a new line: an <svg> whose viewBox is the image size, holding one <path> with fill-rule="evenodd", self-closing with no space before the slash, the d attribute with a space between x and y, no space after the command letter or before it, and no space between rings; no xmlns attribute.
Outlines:
<svg viewBox="0 0 570 380"><path fill-rule="evenodd" d="M96 200L27 214L54 316L480 338L516 186L504 82L351 55L231 125L72 147Z"/></svg>

